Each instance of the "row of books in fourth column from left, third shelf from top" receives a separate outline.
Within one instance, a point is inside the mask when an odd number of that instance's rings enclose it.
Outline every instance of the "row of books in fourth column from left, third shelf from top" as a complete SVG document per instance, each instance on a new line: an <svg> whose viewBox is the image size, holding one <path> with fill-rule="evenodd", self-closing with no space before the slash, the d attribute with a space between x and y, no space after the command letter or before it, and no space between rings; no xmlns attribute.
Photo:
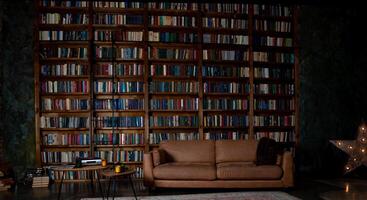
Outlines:
<svg viewBox="0 0 367 200"><path fill-rule="evenodd" d="M247 35L203 34L203 43L248 45Z"/></svg>

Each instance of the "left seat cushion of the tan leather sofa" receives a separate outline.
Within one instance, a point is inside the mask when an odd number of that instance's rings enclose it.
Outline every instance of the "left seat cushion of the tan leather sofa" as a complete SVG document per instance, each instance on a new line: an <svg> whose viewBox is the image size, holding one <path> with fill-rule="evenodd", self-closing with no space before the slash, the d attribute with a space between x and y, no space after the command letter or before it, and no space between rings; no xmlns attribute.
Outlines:
<svg viewBox="0 0 367 200"><path fill-rule="evenodd" d="M215 180L213 163L169 162L153 169L153 176L163 180Z"/></svg>

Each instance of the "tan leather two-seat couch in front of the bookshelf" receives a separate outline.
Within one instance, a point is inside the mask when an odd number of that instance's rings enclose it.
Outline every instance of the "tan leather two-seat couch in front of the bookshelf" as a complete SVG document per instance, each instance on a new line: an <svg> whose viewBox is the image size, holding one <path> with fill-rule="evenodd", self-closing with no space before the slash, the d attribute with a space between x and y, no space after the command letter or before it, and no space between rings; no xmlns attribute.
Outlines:
<svg viewBox="0 0 367 200"><path fill-rule="evenodd" d="M257 141L166 141L144 154L144 184L170 188L272 188L293 186L293 157L258 165Z"/></svg>

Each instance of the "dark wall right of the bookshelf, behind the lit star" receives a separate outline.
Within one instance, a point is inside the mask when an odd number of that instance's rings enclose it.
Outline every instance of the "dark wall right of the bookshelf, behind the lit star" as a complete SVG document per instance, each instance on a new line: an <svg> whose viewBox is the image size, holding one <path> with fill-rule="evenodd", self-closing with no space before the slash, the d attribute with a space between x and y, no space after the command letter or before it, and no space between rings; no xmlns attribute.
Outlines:
<svg viewBox="0 0 367 200"><path fill-rule="evenodd" d="M299 169L342 174L347 156L330 139L354 139L367 119L367 37L358 8L302 6Z"/></svg>

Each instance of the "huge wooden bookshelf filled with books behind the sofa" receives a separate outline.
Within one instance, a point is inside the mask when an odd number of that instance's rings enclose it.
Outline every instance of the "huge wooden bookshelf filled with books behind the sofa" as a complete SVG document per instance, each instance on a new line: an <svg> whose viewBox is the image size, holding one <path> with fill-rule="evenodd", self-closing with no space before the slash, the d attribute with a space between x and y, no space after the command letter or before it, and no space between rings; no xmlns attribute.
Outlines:
<svg viewBox="0 0 367 200"><path fill-rule="evenodd" d="M299 137L297 8L36 1L37 163L137 169L162 140ZM70 174L71 180L88 178Z"/></svg>

